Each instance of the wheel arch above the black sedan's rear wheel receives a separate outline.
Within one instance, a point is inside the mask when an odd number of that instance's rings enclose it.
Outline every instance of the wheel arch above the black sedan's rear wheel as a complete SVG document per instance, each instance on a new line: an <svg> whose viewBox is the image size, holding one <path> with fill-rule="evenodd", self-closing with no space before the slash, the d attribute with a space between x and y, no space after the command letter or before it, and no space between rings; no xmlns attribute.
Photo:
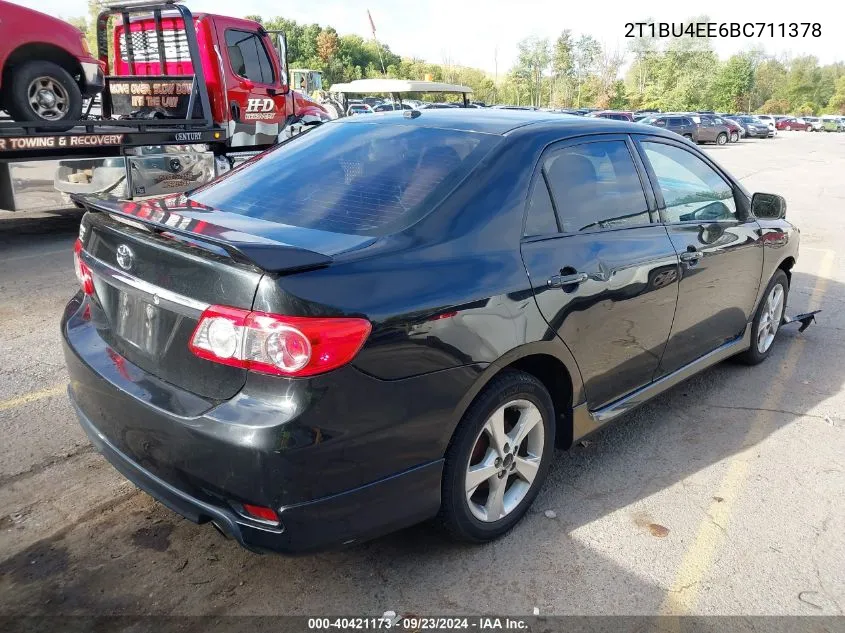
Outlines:
<svg viewBox="0 0 845 633"><path fill-rule="evenodd" d="M555 409L555 444L559 448L569 448L573 437L573 409L584 401L584 385L575 358L562 343L552 341L521 345L490 363L455 407L449 441L478 394L491 380L508 370L526 372L543 383Z"/></svg>

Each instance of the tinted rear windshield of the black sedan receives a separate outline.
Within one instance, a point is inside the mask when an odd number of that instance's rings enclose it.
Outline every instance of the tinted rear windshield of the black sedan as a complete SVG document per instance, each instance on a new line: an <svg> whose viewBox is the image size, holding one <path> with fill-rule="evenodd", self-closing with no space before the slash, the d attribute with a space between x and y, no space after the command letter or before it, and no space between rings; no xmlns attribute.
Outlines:
<svg viewBox="0 0 845 633"><path fill-rule="evenodd" d="M434 208L499 139L387 120L326 123L189 197L280 224L386 235Z"/></svg>

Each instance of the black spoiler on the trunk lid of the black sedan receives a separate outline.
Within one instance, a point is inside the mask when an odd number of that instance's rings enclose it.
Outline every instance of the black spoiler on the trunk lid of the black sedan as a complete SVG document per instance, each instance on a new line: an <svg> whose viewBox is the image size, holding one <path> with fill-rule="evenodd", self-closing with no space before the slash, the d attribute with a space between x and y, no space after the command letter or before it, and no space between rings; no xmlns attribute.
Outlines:
<svg viewBox="0 0 845 633"><path fill-rule="evenodd" d="M213 212L207 213L209 220L181 215L178 209L191 211L191 208L168 209L161 199L132 202L90 194L71 194L70 197L88 211L117 216L117 220L124 218L127 224L141 224L142 228L154 233L188 238L192 244L199 242L199 246L203 243L217 246L233 260L270 273L319 268L333 261L330 255L214 224L211 221ZM195 209L207 211L207 207L201 205L196 205Z"/></svg>

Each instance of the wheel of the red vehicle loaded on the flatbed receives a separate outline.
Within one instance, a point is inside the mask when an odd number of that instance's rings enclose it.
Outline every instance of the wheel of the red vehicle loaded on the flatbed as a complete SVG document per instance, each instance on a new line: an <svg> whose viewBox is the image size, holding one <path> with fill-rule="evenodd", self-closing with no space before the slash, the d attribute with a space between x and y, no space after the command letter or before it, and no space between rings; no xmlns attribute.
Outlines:
<svg viewBox="0 0 845 633"><path fill-rule="evenodd" d="M82 118L82 93L73 77L53 62L32 61L12 75L7 97L9 114L16 121L78 121ZM38 131L63 132L65 128Z"/></svg>

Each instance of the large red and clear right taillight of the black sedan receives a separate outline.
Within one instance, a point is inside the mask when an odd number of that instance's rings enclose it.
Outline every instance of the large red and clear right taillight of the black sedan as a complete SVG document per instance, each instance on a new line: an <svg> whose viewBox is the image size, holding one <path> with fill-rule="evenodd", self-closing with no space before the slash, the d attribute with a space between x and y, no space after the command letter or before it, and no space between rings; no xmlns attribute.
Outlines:
<svg viewBox="0 0 845 633"><path fill-rule="evenodd" d="M207 360L282 376L313 376L351 361L370 334L354 318L291 317L211 306L188 344Z"/></svg>

